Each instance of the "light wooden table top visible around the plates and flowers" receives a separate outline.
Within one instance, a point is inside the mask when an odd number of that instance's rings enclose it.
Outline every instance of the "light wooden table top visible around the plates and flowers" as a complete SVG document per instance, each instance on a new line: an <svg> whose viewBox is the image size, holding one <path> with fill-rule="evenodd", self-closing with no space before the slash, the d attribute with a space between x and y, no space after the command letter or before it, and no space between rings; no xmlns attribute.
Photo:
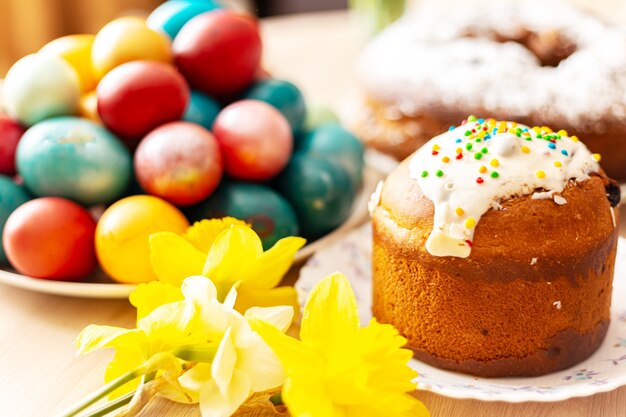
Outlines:
<svg viewBox="0 0 626 417"><path fill-rule="evenodd" d="M344 115L351 111L359 41L345 13L272 19L262 27L270 72L296 82L310 101L329 103ZM111 353L77 357L72 341L87 324L132 326L133 319L127 301L65 298L0 285L0 416L53 416L99 387ZM417 396L433 417L626 416L626 387L557 403L487 403L428 392ZM199 413L157 400L142 415Z"/></svg>

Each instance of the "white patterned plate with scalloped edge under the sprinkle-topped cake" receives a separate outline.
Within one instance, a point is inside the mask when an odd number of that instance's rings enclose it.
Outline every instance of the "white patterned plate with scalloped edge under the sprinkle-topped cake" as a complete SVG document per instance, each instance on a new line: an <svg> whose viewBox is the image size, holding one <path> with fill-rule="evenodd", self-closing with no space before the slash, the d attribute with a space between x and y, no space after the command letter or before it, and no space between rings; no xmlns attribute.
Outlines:
<svg viewBox="0 0 626 417"><path fill-rule="evenodd" d="M296 288L304 298L320 278L343 272L354 288L361 321L371 318L371 231L364 225L309 259ZM589 359L560 372L535 378L477 378L444 371L415 359L417 389L453 398L483 401L561 401L613 390L626 385L626 239L620 237L611 325L602 346Z"/></svg>

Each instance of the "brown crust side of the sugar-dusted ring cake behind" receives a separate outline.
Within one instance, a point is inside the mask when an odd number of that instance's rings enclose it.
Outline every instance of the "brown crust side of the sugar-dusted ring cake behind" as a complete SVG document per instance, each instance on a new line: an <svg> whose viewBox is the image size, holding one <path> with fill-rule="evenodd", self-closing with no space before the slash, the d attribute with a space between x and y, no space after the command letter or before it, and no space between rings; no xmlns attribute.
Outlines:
<svg viewBox="0 0 626 417"><path fill-rule="evenodd" d="M541 115L522 116L484 109L430 108L413 116L390 111L391 104L365 101L359 122L354 126L358 136L371 148L401 161L431 138L458 125L468 114L484 115L497 120L516 120L528 126L550 126L577 135L587 147L602 155L602 167L612 178L626 180L626 126L610 120L598 121L588 131L569 126L565 120L548 120ZM599 128L602 127L602 129ZM599 133L601 131L601 133Z"/></svg>

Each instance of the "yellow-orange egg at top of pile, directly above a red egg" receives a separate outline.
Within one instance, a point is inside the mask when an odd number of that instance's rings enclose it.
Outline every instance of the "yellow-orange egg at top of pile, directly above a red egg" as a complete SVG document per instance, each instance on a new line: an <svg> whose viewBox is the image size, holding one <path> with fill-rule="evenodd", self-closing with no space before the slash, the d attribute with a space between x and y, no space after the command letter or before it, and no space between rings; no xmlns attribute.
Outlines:
<svg viewBox="0 0 626 417"><path fill-rule="evenodd" d="M171 63L171 42L167 35L150 29L145 20L122 17L98 32L91 59L96 77L101 79L113 68L130 61Z"/></svg>

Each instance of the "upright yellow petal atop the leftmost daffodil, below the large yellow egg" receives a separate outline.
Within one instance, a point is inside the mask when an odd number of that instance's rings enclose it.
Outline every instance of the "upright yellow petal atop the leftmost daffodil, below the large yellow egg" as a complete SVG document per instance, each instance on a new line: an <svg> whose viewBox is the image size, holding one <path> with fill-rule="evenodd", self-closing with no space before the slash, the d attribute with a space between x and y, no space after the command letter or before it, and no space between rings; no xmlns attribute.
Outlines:
<svg viewBox="0 0 626 417"><path fill-rule="evenodd" d="M151 351L161 352L197 341L199 335L191 331L194 318L193 304L178 301L157 307L137 322L137 328L148 336Z"/></svg>

